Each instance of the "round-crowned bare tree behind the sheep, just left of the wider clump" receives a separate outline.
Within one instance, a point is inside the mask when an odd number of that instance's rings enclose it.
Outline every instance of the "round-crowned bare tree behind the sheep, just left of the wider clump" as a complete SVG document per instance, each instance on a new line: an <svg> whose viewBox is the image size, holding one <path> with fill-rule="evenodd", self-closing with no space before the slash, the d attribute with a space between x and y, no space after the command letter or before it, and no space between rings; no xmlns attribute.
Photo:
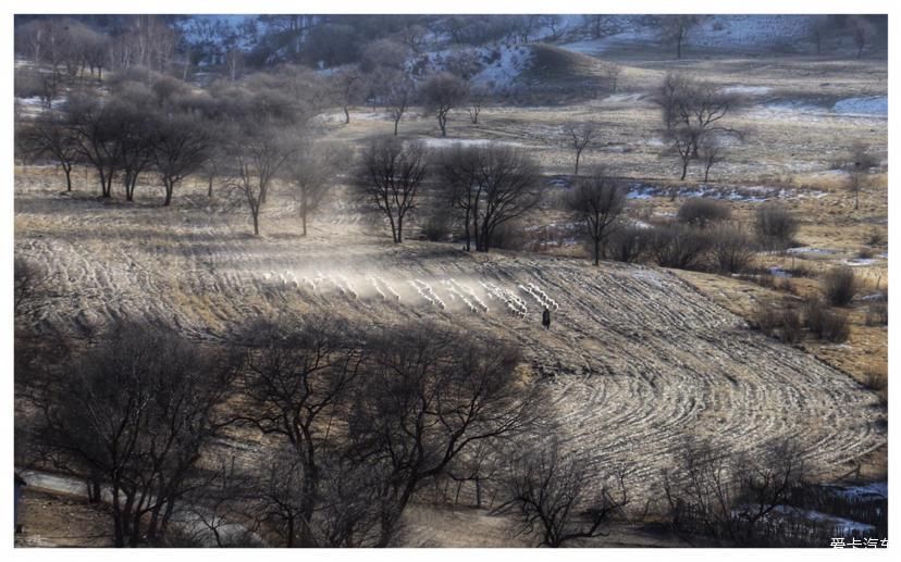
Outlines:
<svg viewBox="0 0 901 562"><path fill-rule="evenodd" d="M360 192L388 218L394 243L404 241L404 218L416 208L428 170L425 146L382 137L363 151L357 171Z"/></svg>

